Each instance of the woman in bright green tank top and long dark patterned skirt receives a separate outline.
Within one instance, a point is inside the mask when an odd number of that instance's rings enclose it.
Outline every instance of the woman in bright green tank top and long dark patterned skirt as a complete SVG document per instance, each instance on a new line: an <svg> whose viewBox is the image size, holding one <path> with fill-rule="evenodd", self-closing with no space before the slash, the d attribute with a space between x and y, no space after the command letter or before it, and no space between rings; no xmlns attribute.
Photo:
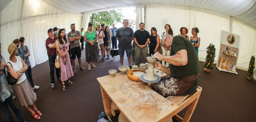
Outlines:
<svg viewBox="0 0 256 122"><path fill-rule="evenodd" d="M88 28L89 30L85 32L85 60L88 62L88 70L91 70L90 62L92 62L92 67L95 68L94 62L99 60L98 34L92 29L92 23L88 24Z"/></svg>

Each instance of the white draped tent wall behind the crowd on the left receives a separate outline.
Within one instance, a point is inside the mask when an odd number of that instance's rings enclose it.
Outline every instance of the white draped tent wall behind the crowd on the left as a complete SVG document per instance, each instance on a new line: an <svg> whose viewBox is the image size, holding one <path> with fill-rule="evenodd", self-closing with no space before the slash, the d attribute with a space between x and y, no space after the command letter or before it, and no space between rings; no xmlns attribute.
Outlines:
<svg viewBox="0 0 256 122"><path fill-rule="evenodd" d="M25 45L31 53L29 60L32 67L48 60L45 40L48 38L49 28L66 28L68 33L71 31L70 24L75 23L76 30L79 31L82 27L80 13L59 10L43 0L12 0L0 12L0 18L1 54L9 57L9 44L14 39L25 37Z"/></svg>

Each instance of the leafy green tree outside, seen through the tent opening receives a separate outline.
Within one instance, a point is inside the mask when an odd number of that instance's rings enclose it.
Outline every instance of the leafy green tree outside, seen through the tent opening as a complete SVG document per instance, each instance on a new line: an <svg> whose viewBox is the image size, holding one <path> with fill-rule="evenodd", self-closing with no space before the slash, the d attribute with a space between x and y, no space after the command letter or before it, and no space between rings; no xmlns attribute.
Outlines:
<svg viewBox="0 0 256 122"><path fill-rule="evenodd" d="M120 11L120 12L118 12ZM98 25L105 24L105 26L112 26L112 24L122 22L122 12L121 9L102 11L97 13L92 13L90 17L90 22L93 24L93 29ZM88 24L85 24L88 25Z"/></svg>

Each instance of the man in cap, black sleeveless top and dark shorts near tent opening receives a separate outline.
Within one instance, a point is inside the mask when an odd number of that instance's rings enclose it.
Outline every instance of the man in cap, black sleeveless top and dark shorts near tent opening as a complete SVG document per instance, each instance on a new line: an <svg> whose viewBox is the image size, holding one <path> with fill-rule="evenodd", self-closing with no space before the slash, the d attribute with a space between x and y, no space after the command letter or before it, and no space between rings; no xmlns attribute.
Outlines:
<svg viewBox="0 0 256 122"><path fill-rule="evenodd" d="M103 38L103 41L104 41L104 43L103 43L103 52L104 52L103 58L105 59L106 58L106 56L105 56L105 47L106 47L107 50L109 49L109 42L110 42L111 36L110 36L109 30L105 29L105 24L101 24L101 28L102 28L101 30L103 31L103 33L105 35L105 37ZM107 54L108 54L108 59L110 59L108 51L107 51Z"/></svg>

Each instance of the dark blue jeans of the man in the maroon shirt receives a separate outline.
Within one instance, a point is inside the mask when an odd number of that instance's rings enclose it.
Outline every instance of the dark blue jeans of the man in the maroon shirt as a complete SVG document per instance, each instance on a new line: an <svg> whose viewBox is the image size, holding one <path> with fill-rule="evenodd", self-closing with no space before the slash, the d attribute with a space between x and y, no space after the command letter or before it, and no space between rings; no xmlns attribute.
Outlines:
<svg viewBox="0 0 256 122"><path fill-rule="evenodd" d="M59 73L60 73L60 70L55 67L55 61L53 61L53 60L50 58L49 55L48 55L48 59L49 59L49 66L50 66L51 83L55 83L55 79L54 79L54 68L55 68L55 70L56 70L57 79L59 79L59 78L61 77L61 75L59 74Z"/></svg>

